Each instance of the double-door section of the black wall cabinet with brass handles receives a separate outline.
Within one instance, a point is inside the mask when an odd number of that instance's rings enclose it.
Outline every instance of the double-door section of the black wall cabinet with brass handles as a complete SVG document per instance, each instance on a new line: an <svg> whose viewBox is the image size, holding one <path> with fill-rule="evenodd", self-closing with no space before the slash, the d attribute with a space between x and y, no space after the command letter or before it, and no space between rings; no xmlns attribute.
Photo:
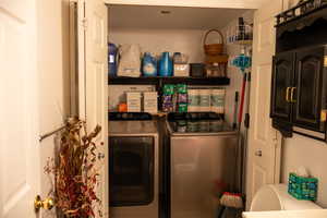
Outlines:
<svg viewBox="0 0 327 218"><path fill-rule="evenodd" d="M295 128L295 132L326 132L326 48L315 46L274 57L270 117L282 133Z"/></svg>

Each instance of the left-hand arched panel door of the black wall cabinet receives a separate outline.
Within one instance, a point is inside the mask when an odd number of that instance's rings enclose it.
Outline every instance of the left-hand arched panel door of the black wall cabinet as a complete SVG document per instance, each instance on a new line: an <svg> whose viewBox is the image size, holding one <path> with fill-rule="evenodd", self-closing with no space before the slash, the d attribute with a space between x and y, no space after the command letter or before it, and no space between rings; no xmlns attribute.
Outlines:
<svg viewBox="0 0 327 218"><path fill-rule="evenodd" d="M290 90L293 80L294 53L286 52L274 57L272 84L271 84L271 108L270 117L290 122L291 104Z"/></svg>

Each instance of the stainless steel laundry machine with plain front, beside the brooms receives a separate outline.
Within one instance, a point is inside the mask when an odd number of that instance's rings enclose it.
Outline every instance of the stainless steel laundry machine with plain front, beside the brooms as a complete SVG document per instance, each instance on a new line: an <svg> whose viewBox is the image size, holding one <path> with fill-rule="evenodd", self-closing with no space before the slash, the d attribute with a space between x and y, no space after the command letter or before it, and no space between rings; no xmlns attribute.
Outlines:
<svg viewBox="0 0 327 218"><path fill-rule="evenodd" d="M216 217L234 178L237 132L216 113L171 113L167 130L166 217Z"/></svg>

